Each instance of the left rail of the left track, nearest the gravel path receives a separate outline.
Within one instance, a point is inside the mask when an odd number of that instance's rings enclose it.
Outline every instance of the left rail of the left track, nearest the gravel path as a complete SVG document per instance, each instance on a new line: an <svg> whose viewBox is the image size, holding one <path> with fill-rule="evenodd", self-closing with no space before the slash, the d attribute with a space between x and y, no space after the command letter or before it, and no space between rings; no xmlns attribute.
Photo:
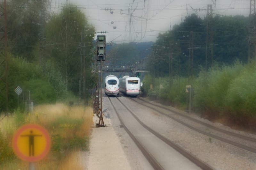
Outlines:
<svg viewBox="0 0 256 170"><path fill-rule="evenodd" d="M137 145L137 147L140 149L140 151L142 152L142 154L145 156L145 158L148 160L148 162L150 163L150 165L156 169L156 170L164 170L164 168L156 161L156 159L148 152L148 150L140 143L140 141L132 134L132 132L125 126L123 119L121 118L121 116L119 115L119 113L116 110L116 107L113 105L112 101L110 100L110 98L108 97L108 100L110 101L112 107L115 110L115 113L120 121L120 123L124 126L124 130L126 131L126 133L132 138L132 140L134 141L134 143Z"/></svg>

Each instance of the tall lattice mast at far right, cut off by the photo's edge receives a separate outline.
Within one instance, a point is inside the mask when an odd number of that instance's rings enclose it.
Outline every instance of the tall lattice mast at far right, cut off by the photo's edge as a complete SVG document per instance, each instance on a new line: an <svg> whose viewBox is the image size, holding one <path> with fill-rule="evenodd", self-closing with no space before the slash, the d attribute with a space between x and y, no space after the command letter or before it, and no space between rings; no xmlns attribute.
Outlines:
<svg viewBox="0 0 256 170"><path fill-rule="evenodd" d="M249 14L249 39L248 39L248 63L252 58L254 52L254 57L256 60L256 11L255 11L255 0L250 0L250 14ZM254 45L254 47L253 47Z"/></svg>

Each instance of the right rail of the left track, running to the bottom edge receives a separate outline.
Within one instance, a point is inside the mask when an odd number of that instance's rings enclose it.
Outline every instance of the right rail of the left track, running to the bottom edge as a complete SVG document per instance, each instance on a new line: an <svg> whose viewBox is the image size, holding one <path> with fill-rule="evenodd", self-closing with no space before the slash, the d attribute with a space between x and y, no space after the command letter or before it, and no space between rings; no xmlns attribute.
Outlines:
<svg viewBox="0 0 256 170"><path fill-rule="evenodd" d="M141 126L143 126L145 129L147 129L149 132L151 132L152 134L154 134L156 137L158 137L159 139L161 139L164 143L168 144L169 146L171 146L173 149L175 149L177 152L179 152L181 155L183 155L184 157L186 157L187 159L189 159L191 162L193 162L194 164L196 164L198 167L202 168L202 169L207 169L207 170L213 170L214 168L208 164L206 164L204 161L202 161L201 159L198 159L197 157L195 157L194 155L192 155L191 153L187 152L186 150L184 150L183 148L181 148L179 145L173 143L170 139L164 137L163 135L159 134L158 132L156 132L155 130L149 128L146 124L144 124L143 122L140 121L140 119L120 100L117 98L117 100L131 113L131 115L140 123Z"/></svg>

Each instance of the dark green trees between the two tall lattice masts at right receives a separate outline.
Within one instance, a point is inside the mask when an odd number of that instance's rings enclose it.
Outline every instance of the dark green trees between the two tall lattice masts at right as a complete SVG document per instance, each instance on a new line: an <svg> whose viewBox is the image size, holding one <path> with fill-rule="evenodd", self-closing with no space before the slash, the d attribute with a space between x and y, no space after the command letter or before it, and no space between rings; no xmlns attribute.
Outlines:
<svg viewBox="0 0 256 170"><path fill-rule="evenodd" d="M248 17L216 16L213 18L214 60L233 63L248 61Z"/></svg>

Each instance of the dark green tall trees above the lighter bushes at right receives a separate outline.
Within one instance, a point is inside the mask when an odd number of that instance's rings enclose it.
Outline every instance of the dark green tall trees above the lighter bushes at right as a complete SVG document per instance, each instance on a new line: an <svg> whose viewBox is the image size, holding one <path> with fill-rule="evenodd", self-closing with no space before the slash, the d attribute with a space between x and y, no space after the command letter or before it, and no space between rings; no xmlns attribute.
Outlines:
<svg viewBox="0 0 256 170"><path fill-rule="evenodd" d="M236 59L243 63L248 61L248 21L248 17L244 16L215 16L212 19L213 63L230 65ZM173 26L171 31L159 34L146 62L151 75L165 77L172 72L173 76L185 77L188 75L188 67L193 67L192 76L199 74L198 66L205 65L207 22L207 17L202 19L191 14L179 25ZM207 54L211 56L210 46ZM193 63L189 61L191 57ZM211 66L208 58L207 69Z"/></svg>

